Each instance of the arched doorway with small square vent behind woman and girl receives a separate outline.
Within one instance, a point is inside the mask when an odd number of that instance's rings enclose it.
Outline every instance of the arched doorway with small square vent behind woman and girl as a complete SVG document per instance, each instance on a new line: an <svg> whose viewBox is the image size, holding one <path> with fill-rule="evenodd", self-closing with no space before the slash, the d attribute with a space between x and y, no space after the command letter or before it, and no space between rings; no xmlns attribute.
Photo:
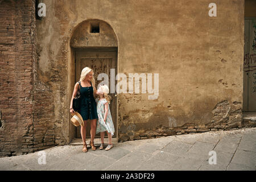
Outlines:
<svg viewBox="0 0 256 182"><path fill-rule="evenodd" d="M101 73L108 75L109 95L112 97L110 112L115 127L113 138L117 138L118 96L115 94L115 88L111 88L110 85L111 82L116 85L115 74L118 72L118 39L113 28L103 20L85 20L73 32L70 46L73 71L75 71L75 74L72 75L74 83L79 81L81 71L85 67L93 69L96 87L104 80L98 75ZM73 88L71 89L73 92ZM73 136L81 138L80 127L73 127L73 130ZM86 139L88 138L90 138L90 123L86 129ZM96 134L96 138L100 138L100 134Z"/></svg>

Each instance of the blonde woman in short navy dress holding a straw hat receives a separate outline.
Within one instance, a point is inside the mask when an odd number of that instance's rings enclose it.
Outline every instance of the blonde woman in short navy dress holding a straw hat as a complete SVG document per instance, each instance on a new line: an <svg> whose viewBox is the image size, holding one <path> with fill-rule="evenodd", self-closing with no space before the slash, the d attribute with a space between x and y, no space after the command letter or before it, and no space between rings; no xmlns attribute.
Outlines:
<svg viewBox="0 0 256 182"><path fill-rule="evenodd" d="M86 124L87 121L90 119L90 146L92 150L96 150L96 146L94 146L94 137L96 134L96 124L97 124L97 105L96 105L96 88L95 88L95 80L93 77L92 69L85 67L82 69L81 77L80 77L80 86L81 86L81 105L79 113L84 119L84 126L81 126L81 136L82 136L82 151L87 152L87 144L86 144ZM79 82L76 83L73 96L71 98L70 104L70 112L74 112L72 105L73 105L73 98L76 97L77 89L79 89Z"/></svg>

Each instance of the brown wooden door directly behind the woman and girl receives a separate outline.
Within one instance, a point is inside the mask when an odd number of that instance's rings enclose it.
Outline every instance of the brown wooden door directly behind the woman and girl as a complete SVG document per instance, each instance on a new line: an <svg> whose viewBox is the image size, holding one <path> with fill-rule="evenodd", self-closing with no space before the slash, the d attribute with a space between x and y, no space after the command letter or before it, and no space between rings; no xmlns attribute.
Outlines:
<svg viewBox="0 0 256 182"><path fill-rule="evenodd" d="M115 69L115 74L117 74L117 51L76 51L76 81L80 80L81 71L85 67L89 67L94 72L94 80L96 89L98 84L102 80L98 80L98 75L100 73L106 73L109 77L109 92L110 92L110 69ZM115 75L114 75L115 76ZM114 79L115 81L115 79ZM115 81L115 85L117 81ZM116 137L117 133L117 97L115 93L109 93L109 96L112 97L110 101L110 112L112 115L115 133L113 137ZM80 126L76 127L76 138L81 138ZM105 134L106 137L106 134ZM90 138L90 120L87 122L86 126L86 138ZM96 138L100 138L100 133L96 134Z"/></svg>

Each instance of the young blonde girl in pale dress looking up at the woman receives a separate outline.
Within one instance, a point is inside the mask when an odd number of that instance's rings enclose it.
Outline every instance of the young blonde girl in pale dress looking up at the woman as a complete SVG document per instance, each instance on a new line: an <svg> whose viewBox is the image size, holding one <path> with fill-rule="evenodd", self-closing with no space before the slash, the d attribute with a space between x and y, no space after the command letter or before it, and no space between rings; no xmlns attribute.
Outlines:
<svg viewBox="0 0 256 182"><path fill-rule="evenodd" d="M98 96L100 98L96 98L97 102L97 114L98 114L98 121L97 121L97 127L96 127L96 133L101 133L101 146L100 150L104 148L104 136L105 131L108 133L109 138L109 144L108 147L106 147L105 150L110 150L113 147L112 144L112 135L114 135L114 125L109 109L109 103L110 103L110 96L109 88L107 85L101 85L97 92Z"/></svg>

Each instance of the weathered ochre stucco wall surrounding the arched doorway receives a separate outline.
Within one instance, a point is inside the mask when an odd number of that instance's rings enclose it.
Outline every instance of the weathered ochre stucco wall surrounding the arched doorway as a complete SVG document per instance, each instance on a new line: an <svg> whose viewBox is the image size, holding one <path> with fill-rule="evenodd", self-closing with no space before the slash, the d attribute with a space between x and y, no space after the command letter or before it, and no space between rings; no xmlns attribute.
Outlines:
<svg viewBox="0 0 256 182"><path fill-rule="evenodd" d="M119 94L119 140L242 126L243 1L43 1L38 79L51 89L55 144L68 143L75 85L70 41L87 19L112 26L119 73L159 73L159 97Z"/></svg>

